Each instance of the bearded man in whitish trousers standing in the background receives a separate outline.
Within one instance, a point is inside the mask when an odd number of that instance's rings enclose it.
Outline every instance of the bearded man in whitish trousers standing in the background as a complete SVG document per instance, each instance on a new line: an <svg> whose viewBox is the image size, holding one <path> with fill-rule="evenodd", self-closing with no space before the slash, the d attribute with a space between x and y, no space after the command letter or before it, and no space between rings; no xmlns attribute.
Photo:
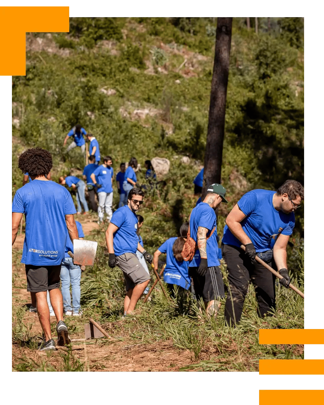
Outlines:
<svg viewBox="0 0 324 405"><path fill-rule="evenodd" d="M111 156L105 156L103 164L100 164L91 174L91 179L97 188L98 194L98 224L104 221L104 211L107 214L107 220L110 222L113 211L113 176L114 170L111 167L113 160ZM98 179L98 181L97 181Z"/></svg>

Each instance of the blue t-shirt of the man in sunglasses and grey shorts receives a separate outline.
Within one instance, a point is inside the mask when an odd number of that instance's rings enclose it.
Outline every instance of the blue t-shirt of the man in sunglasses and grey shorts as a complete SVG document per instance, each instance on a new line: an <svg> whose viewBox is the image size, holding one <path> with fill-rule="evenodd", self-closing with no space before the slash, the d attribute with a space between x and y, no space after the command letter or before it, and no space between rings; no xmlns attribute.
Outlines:
<svg viewBox="0 0 324 405"><path fill-rule="evenodd" d="M114 233L114 252L116 256L120 256L124 253L136 253L137 250L137 216L128 207L118 208L111 217L110 222L118 229Z"/></svg>

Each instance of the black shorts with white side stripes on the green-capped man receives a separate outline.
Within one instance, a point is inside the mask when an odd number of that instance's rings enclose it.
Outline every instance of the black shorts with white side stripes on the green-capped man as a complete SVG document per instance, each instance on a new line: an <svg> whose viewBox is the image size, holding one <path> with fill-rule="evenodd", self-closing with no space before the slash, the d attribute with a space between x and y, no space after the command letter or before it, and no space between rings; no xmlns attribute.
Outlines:
<svg viewBox="0 0 324 405"><path fill-rule="evenodd" d="M194 290L196 298L199 301L203 298L204 302L209 302L217 298L225 298L224 283L220 266L208 267L207 273L204 276L200 276L197 273L198 267L189 267L189 276L192 277L194 282ZM211 272L213 273L213 279L211 278ZM215 293L213 287L213 281L215 286Z"/></svg>

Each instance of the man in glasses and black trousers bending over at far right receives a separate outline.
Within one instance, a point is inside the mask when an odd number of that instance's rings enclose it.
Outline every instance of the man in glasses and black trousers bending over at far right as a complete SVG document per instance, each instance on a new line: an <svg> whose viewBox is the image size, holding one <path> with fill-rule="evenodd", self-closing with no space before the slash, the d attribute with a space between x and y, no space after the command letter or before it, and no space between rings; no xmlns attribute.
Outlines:
<svg viewBox="0 0 324 405"><path fill-rule="evenodd" d="M301 183L287 180L277 192L247 192L228 214L222 239L222 255L228 271L227 324L234 326L240 321L250 282L256 292L258 316L273 315L275 276L254 258L257 255L264 262L277 266L283 276L279 283L288 288L286 247L295 225L294 211L303 199ZM245 252L241 245L245 245Z"/></svg>

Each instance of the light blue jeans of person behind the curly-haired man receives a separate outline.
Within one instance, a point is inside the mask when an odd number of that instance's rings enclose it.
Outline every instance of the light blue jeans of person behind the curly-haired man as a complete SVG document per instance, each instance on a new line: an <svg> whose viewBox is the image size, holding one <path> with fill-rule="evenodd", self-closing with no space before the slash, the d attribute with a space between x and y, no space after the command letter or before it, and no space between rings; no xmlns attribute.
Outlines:
<svg viewBox="0 0 324 405"><path fill-rule="evenodd" d="M63 307L65 311L72 311L70 284L72 285L72 305L73 312L78 313L80 309L80 280L81 268L77 264L73 264L71 257L64 258L61 266L61 282L62 282L62 296Z"/></svg>

